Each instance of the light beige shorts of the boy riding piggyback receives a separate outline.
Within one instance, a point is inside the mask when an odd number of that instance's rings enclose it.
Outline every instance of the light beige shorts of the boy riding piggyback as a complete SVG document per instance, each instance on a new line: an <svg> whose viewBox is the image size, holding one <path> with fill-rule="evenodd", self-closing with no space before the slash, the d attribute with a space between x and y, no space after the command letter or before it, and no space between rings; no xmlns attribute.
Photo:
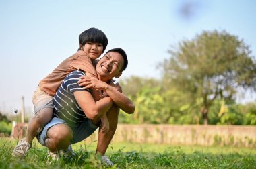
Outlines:
<svg viewBox="0 0 256 169"><path fill-rule="evenodd" d="M46 92L41 91L40 87L36 87L33 95L34 113L44 108L53 108L53 97L48 95Z"/></svg>

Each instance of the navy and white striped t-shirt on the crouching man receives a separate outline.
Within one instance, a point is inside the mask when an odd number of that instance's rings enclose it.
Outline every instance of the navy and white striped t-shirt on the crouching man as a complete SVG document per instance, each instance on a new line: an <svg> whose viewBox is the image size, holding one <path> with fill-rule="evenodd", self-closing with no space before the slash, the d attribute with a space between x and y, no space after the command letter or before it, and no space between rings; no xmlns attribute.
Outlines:
<svg viewBox="0 0 256 169"><path fill-rule="evenodd" d="M77 84L81 76L86 76L86 74L80 70L69 73L53 97L53 117L65 120L70 127L77 127L84 118L87 118L73 95L75 91L90 92L89 89L83 89Z"/></svg>

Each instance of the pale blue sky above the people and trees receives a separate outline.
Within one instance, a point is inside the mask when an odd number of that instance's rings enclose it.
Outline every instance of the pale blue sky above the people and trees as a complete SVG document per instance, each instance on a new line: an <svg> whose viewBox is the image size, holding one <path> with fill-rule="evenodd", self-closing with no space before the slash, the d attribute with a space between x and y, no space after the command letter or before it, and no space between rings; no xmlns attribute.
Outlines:
<svg viewBox="0 0 256 169"><path fill-rule="evenodd" d="M0 1L0 111L32 109L38 82L75 53L78 36L97 27L108 47L123 48L123 77L158 77L168 49L203 30L226 30L256 52L256 1ZM255 93L239 101L249 101Z"/></svg>

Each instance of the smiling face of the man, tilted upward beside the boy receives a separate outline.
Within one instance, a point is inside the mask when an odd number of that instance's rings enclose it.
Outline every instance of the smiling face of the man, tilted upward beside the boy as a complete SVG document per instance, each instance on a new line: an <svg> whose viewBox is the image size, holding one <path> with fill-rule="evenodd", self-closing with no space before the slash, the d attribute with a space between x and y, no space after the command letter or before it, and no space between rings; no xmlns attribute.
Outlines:
<svg viewBox="0 0 256 169"><path fill-rule="evenodd" d="M99 78L110 80L113 77L121 76L121 69L124 64L123 56L117 52L108 52L105 54L96 65L96 72ZM102 80L104 80L102 79Z"/></svg>

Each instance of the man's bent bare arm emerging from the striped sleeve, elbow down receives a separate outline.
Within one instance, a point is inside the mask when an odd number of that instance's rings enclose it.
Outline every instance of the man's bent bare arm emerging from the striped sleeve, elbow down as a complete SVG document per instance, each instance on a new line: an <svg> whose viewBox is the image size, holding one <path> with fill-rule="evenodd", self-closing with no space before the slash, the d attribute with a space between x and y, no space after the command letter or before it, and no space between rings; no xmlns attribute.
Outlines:
<svg viewBox="0 0 256 169"><path fill-rule="evenodd" d="M106 113L113 105L110 97L104 97L99 101L94 98L88 91L75 91L75 100L89 119L98 119Z"/></svg>

